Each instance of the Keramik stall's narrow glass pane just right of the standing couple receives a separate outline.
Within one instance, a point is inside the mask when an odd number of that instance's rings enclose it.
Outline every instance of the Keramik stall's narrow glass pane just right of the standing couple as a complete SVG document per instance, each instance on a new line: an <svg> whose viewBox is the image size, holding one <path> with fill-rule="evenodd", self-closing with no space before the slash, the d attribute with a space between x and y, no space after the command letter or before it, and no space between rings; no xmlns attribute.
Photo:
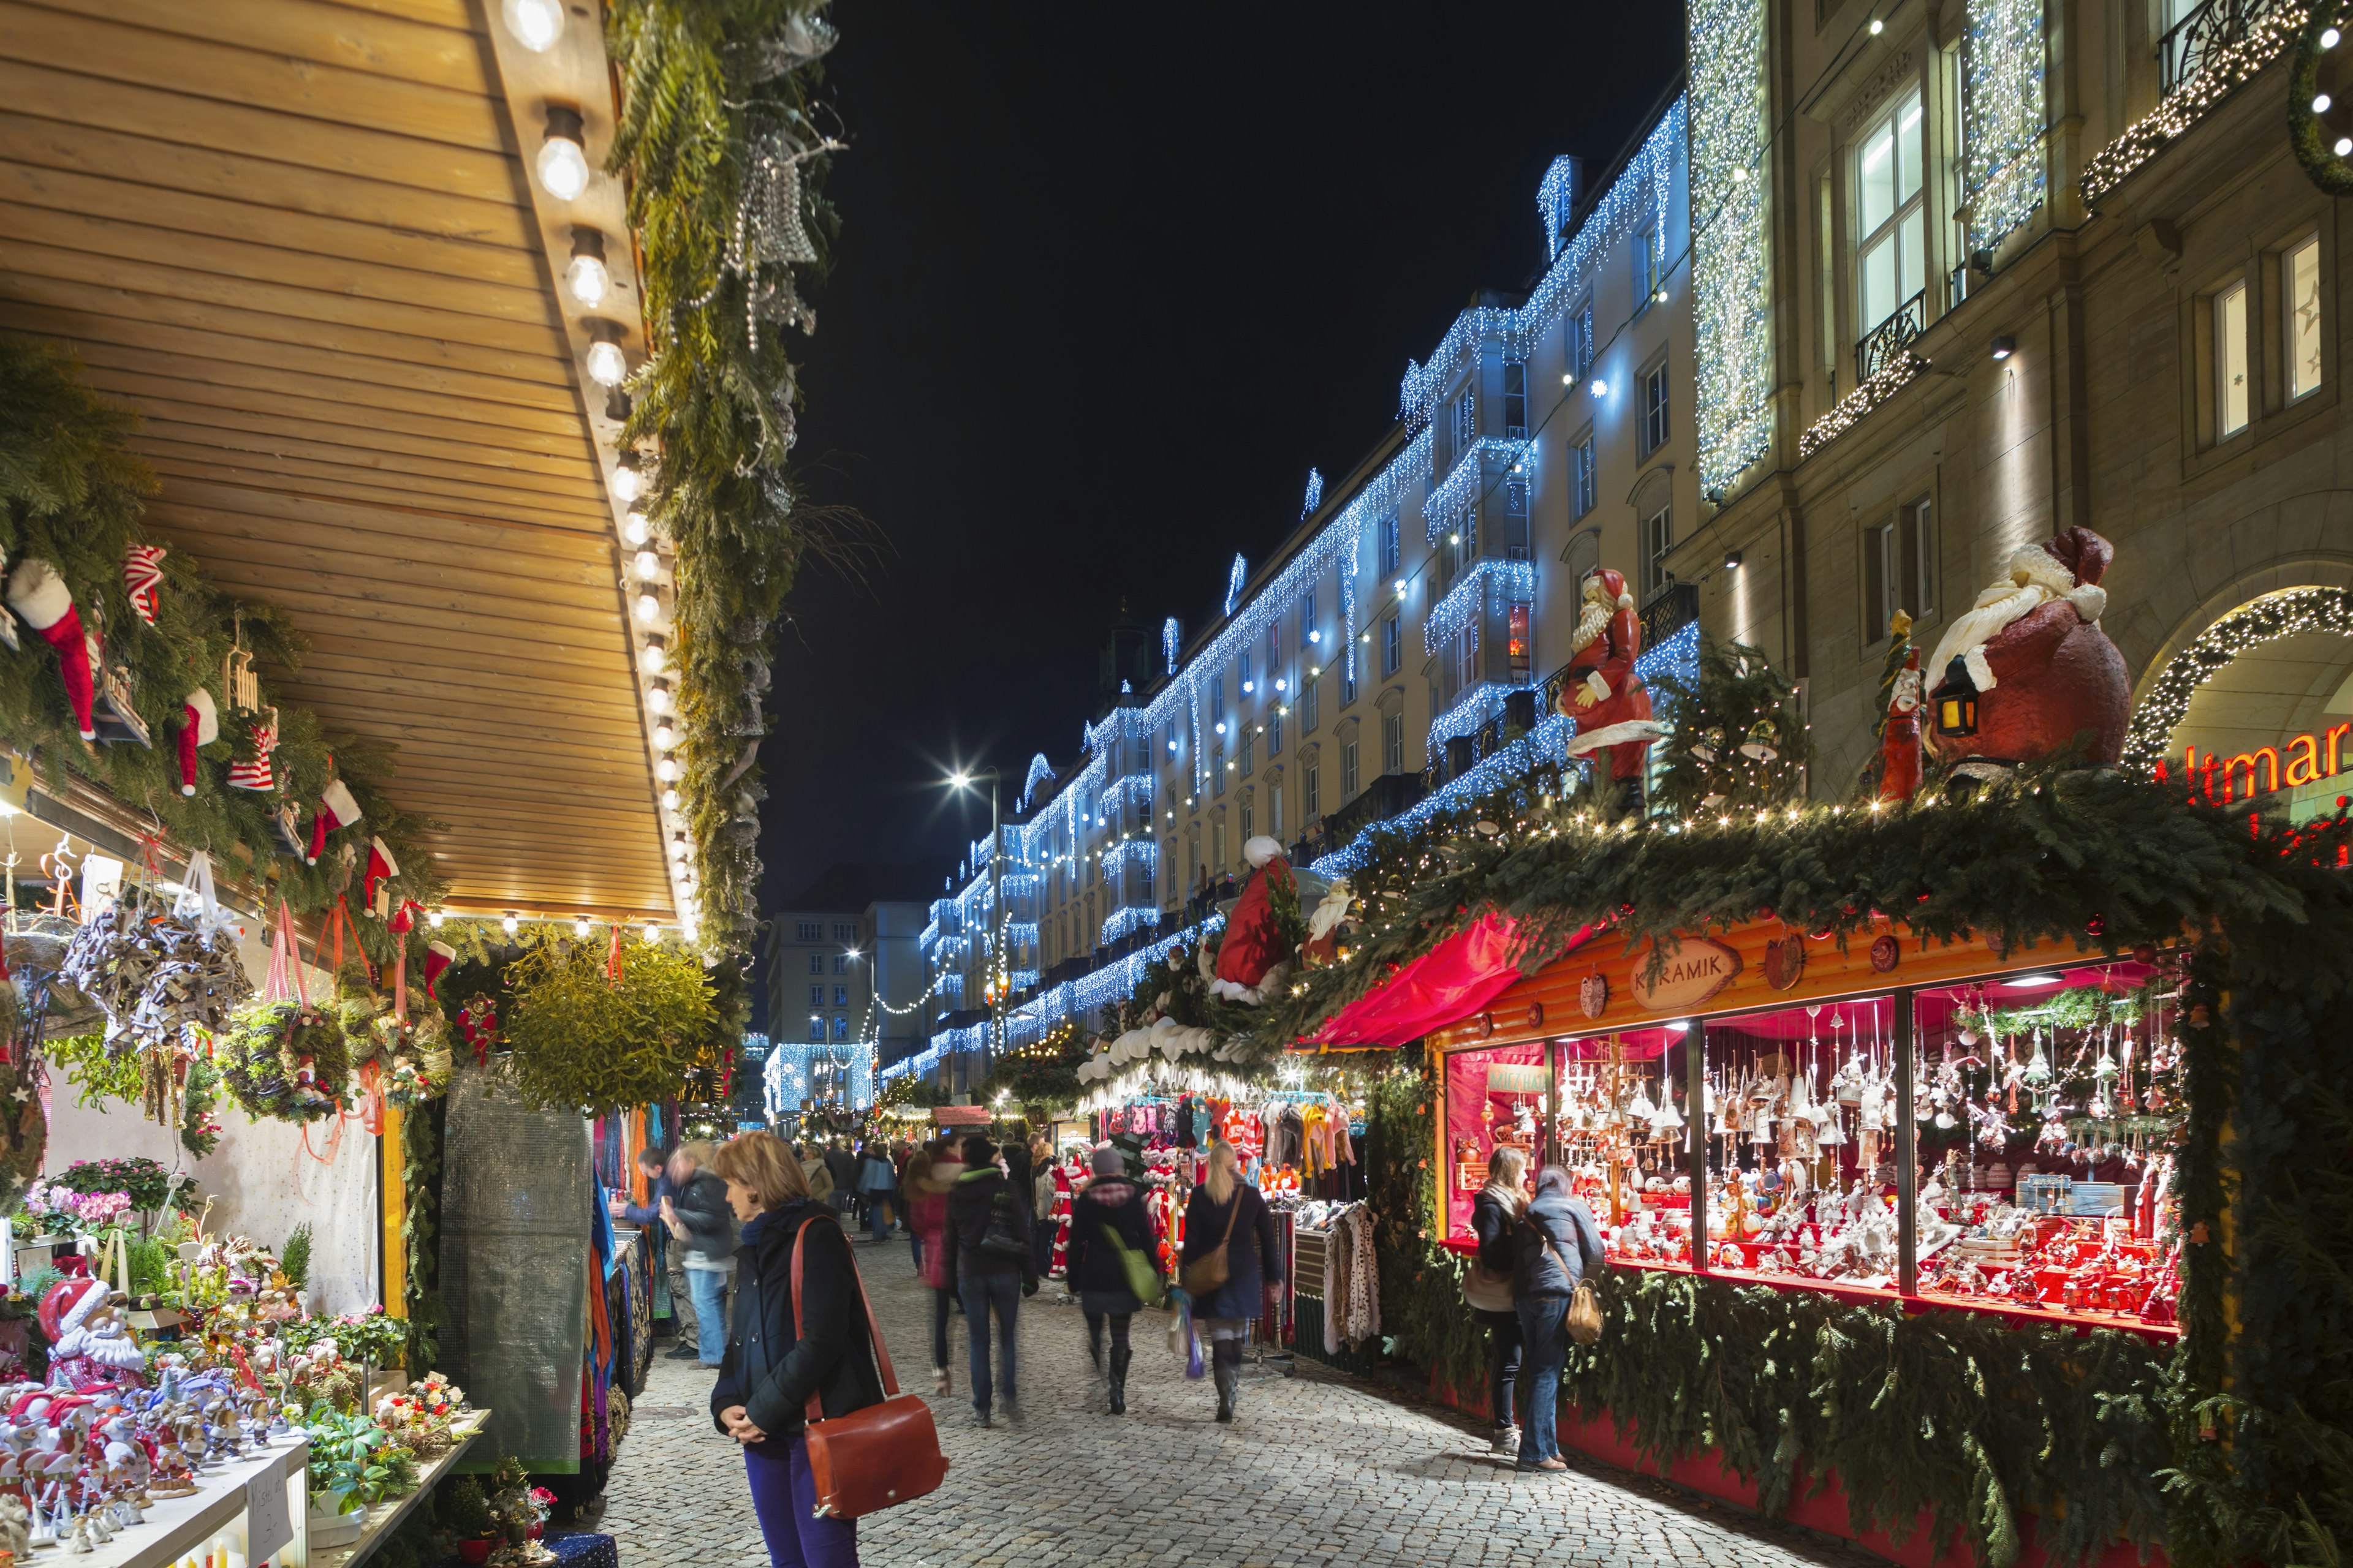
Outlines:
<svg viewBox="0 0 2353 1568"><path fill-rule="evenodd" d="M1560 1041L1553 1159L1614 1262L1692 1260L1689 1023Z"/></svg>

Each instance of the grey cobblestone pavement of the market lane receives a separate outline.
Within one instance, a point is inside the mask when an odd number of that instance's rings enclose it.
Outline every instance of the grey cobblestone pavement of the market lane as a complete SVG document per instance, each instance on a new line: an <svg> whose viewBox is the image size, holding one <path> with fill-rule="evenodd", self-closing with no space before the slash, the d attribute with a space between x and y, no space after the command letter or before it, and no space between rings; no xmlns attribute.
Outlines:
<svg viewBox="0 0 2353 1568"><path fill-rule="evenodd" d="M1021 1307L1024 1425L969 1425L962 1319L955 1392L932 1396L929 1291L904 1241L861 1241L901 1387L932 1401L948 1481L859 1523L866 1568L1325 1568L1367 1563L1875 1563L1737 1509L1602 1467L1522 1476L1478 1422L1301 1359L1297 1378L1242 1385L1240 1420L1212 1420L1209 1380L1186 1382L1167 1316L1136 1319L1127 1415L1104 1413L1075 1305L1047 1286ZM711 1427L711 1373L654 1359L602 1523L626 1568L767 1561L734 1443ZM1572 1458L1572 1462L1577 1462Z"/></svg>

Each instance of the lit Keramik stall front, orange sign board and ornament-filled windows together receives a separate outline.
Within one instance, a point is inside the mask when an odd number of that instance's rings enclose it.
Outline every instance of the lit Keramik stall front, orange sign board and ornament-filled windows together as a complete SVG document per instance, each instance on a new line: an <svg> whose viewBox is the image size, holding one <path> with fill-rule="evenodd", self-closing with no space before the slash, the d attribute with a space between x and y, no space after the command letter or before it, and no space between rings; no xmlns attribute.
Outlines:
<svg viewBox="0 0 2353 1568"><path fill-rule="evenodd" d="M1612 1267L2177 1333L2172 954L1765 922L1649 959L1586 947L1428 1037L1449 1248L1541 1074L1529 1171Z"/></svg>

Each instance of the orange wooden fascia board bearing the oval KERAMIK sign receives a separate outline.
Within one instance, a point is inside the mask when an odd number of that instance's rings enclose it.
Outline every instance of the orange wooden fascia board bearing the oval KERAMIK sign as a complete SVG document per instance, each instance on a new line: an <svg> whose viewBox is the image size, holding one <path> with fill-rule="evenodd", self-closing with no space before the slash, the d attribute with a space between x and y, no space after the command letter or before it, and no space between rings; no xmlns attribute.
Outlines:
<svg viewBox="0 0 2353 1568"><path fill-rule="evenodd" d="M1805 954L1802 961L1793 961L1788 952L1774 954L1777 943L1784 947L1795 943ZM1668 943L1668 959L1671 969L1652 1004L1642 985L1649 943L1628 952L1624 938L1598 933L1558 964L1515 980L1478 1016L1433 1032L1431 1046L1461 1051L1652 1030L1675 1018L1753 1013L1889 992L1899 985L1951 985L1977 976L2066 969L2082 964L2087 954L2073 945L2049 943L2002 954L1981 936L1939 943L1887 926L1857 931L1840 947L1838 938L1805 936L1779 922L1753 922L1711 938L1687 936L1680 947ZM1708 985L1715 990L1706 990ZM1598 1013L1586 1009L1588 997L1600 1001Z"/></svg>

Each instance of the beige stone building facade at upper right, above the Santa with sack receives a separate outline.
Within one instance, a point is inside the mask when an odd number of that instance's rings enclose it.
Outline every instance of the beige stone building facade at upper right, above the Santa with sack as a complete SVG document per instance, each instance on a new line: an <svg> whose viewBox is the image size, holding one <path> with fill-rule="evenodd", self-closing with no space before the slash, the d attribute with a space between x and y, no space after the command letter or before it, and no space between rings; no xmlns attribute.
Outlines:
<svg viewBox="0 0 2353 1568"><path fill-rule="evenodd" d="M2012 552L2087 527L2115 545L2127 759L2334 802L2353 301L2341 202L2282 129L2301 24L2266 0L1694 0L1713 390L1704 520L1668 564L1713 635L1800 679L1817 799L1871 757L1892 614L1927 661ZM2337 99L2344 54L2320 52Z"/></svg>

